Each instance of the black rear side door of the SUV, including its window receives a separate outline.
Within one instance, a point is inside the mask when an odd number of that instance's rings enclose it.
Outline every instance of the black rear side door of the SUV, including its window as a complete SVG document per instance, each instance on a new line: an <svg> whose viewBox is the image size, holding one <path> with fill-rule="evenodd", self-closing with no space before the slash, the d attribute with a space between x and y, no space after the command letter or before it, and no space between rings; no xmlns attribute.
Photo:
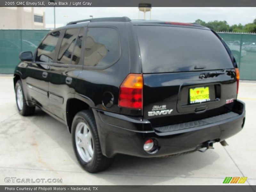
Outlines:
<svg viewBox="0 0 256 192"><path fill-rule="evenodd" d="M83 68L81 58L86 28L63 29L56 62L51 64L49 101L50 111L60 119L66 119L66 104L74 98L76 78Z"/></svg>

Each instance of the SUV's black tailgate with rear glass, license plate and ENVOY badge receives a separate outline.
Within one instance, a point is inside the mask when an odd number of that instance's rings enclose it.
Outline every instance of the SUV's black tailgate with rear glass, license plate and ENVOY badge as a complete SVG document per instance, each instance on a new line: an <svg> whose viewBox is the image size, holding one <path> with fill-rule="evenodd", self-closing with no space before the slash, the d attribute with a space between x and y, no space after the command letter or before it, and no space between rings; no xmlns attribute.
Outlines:
<svg viewBox="0 0 256 192"><path fill-rule="evenodd" d="M225 47L211 30L134 26L144 79L144 117L154 127L227 113L236 76Z"/></svg>

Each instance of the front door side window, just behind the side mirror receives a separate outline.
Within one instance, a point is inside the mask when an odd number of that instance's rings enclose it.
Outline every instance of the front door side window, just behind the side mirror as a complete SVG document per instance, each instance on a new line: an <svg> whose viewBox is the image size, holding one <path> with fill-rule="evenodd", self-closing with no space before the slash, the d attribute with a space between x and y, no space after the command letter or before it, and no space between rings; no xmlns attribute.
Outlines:
<svg viewBox="0 0 256 192"><path fill-rule="evenodd" d="M60 31L55 31L44 39L37 48L36 61L52 62L59 37Z"/></svg>

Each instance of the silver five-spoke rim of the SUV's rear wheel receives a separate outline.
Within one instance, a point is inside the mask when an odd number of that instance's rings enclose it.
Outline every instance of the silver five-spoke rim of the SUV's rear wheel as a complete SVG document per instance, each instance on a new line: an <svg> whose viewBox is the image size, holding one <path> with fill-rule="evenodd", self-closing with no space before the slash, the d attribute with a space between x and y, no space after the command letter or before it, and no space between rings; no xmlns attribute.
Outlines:
<svg viewBox="0 0 256 192"><path fill-rule="evenodd" d="M80 157L90 162L93 157L92 133L87 124L80 122L76 125L76 148Z"/></svg>

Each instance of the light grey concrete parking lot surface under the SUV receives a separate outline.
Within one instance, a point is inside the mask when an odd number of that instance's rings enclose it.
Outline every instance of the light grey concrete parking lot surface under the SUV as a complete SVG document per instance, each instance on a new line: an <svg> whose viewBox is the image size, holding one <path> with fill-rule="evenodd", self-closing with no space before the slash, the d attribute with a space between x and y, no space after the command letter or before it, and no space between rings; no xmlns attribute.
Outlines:
<svg viewBox="0 0 256 192"><path fill-rule="evenodd" d="M222 185L225 177L256 185L256 82L241 82L238 99L246 103L245 125L228 146L165 158L118 155L108 170L92 174L78 164L66 126L38 108L20 116L12 76L0 76L0 185ZM62 183L6 183L6 177Z"/></svg>

